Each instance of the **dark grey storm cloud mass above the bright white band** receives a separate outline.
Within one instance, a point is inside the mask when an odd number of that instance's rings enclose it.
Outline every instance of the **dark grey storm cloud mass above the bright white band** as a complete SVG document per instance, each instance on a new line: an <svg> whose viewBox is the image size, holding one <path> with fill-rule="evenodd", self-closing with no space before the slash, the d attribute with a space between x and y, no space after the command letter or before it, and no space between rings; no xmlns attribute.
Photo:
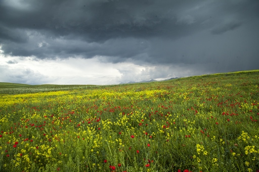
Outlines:
<svg viewBox="0 0 259 172"><path fill-rule="evenodd" d="M257 0L3 0L0 42L4 54L35 59L249 69L258 62L258 9Z"/></svg>

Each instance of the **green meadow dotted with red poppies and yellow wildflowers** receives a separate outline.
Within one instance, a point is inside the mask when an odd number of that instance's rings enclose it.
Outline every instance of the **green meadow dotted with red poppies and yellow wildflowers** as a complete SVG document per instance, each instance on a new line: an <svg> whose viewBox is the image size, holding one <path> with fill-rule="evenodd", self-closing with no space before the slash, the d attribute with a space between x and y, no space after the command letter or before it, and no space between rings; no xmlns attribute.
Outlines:
<svg viewBox="0 0 259 172"><path fill-rule="evenodd" d="M0 171L259 171L259 70L0 93Z"/></svg>

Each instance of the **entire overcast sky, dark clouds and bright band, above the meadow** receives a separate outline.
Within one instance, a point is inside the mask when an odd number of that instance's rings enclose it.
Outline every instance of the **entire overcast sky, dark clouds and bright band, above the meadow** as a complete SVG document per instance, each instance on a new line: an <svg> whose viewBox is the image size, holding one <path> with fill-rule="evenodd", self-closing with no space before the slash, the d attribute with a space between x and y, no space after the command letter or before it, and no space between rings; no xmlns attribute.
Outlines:
<svg viewBox="0 0 259 172"><path fill-rule="evenodd" d="M258 0L1 0L0 82L118 84L259 69Z"/></svg>

